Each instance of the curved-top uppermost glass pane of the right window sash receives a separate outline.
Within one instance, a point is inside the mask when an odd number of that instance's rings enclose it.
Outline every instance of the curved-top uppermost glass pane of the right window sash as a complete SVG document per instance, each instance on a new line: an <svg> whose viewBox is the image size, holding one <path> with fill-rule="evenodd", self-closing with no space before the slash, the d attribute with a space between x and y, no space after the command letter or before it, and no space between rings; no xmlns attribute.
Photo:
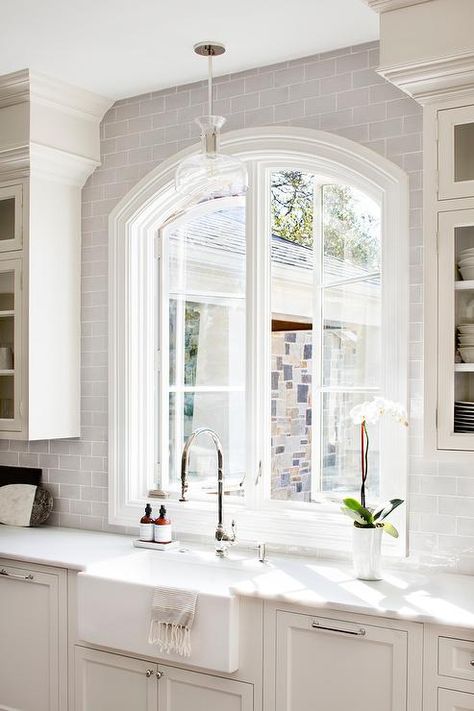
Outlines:
<svg viewBox="0 0 474 711"><path fill-rule="evenodd" d="M380 208L342 185L323 187L324 283L380 270Z"/></svg>

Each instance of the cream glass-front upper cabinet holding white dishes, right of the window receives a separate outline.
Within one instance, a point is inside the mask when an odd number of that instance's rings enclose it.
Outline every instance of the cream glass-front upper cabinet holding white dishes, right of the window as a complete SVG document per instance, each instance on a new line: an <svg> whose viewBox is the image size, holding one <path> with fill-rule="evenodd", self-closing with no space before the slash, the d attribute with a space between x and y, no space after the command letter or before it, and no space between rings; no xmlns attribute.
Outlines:
<svg viewBox="0 0 474 711"><path fill-rule="evenodd" d="M425 452L474 451L474 92L424 107ZM438 180L435 180L435 176ZM451 456L451 454L450 454Z"/></svg>

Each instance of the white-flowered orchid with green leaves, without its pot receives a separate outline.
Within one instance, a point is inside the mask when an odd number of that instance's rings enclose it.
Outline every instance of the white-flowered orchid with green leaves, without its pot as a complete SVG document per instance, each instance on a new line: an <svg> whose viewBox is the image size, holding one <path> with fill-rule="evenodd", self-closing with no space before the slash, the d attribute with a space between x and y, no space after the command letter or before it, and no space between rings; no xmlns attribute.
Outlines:
<svg viewBox="0 0 474 711"><path fill-rule="evenodd" d="M376 508L366 505L365 485L369 470L369 435L368 424L376 424L381 417L388 415L404 427L408 427L407 413L403 405L376 397L352 408L350 416L355 425L360 427L361 449L361 487L360 501L351 497L343 500L342 511L352 518L357 528L383 528L383 530L398 538L395 526L385 519L394 509L403 504L403 499L390 499L387 503Z"/></svg>

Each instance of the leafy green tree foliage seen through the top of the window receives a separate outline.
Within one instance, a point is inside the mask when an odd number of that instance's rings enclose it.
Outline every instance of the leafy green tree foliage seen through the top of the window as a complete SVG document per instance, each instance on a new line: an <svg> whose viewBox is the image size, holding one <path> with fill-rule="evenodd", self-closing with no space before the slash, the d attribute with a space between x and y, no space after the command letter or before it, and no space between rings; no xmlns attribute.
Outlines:
<svg viewBox="0 0 474 711"><path fill-rule="evenodd" d="M305 247L313 245L314 176L301 171L272 174L271 206L274 234ZM369 270L379 268L378 217L367 202L358 204L356 191L325 185L324 253Z"/></svg>

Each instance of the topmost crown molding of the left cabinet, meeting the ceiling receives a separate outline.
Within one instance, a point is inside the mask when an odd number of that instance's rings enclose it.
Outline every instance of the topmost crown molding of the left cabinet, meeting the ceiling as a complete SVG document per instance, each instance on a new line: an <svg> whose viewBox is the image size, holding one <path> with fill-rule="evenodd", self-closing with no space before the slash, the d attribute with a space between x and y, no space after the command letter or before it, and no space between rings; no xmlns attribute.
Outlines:
<svg viewBox="0 0 474 711"><path fill-rule="evenodd" d="M112 99L30 69L0 76L0 108L25 102L46 104L97 122L114 103Z"/></svg>

